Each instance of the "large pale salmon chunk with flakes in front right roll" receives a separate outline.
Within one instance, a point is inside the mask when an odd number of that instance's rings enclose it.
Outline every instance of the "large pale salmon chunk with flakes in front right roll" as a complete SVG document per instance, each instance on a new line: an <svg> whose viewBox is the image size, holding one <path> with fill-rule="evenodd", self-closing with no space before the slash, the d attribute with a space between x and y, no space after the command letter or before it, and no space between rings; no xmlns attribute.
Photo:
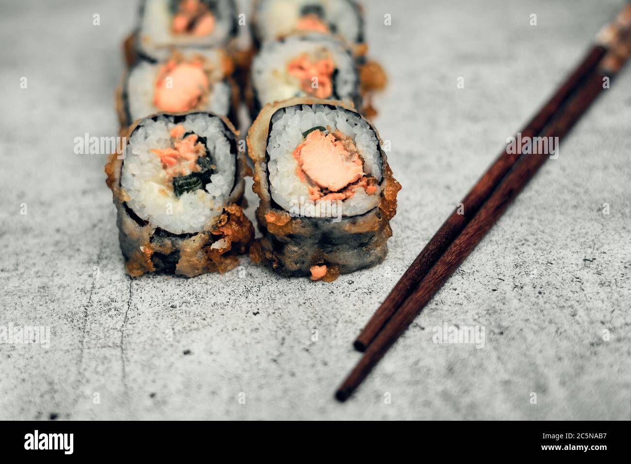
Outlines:
<svg viewBox="0 0 631 464"><path fill-rule="evenodd" d="M321 129L310 131L292 153L298 178L309 184L309 199L343 201L360 188L374 194L377 181L363 172L363 160L353 140L340 131L324 134Z"/></svg>

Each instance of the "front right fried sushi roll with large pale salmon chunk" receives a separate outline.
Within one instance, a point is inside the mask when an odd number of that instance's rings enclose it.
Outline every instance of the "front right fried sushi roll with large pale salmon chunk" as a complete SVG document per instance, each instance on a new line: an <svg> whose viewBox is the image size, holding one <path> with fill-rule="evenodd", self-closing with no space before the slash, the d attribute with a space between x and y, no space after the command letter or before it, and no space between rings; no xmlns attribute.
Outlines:
<svg viewBox="0 0 631 464"><path fill-rule="evenodd" d="M291 98L261 110L247 146L262 232L253 261L325 281L383 261L401 186L369 121L336 100Z"/></svg>

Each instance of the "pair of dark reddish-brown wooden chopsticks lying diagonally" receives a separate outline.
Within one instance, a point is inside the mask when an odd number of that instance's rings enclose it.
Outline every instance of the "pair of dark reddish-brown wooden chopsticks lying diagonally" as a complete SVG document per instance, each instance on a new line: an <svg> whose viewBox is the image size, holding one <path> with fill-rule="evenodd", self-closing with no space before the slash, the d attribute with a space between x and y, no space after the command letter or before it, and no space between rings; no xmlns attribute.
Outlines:
<svg viewBox="0 0 631 464"><path fill-rule="evenodd" d="M601 30L594 47L540 112L522 129L526 137L562 140L589 105L609 88L631 55L631 5ZM336 392L345 401L418 313L504 213L552 153L505 149L461 201L381 304L355 340L365 352ZM462 208L464 207L464 211ZM464 214L463 214L464 212Z"/></svg>

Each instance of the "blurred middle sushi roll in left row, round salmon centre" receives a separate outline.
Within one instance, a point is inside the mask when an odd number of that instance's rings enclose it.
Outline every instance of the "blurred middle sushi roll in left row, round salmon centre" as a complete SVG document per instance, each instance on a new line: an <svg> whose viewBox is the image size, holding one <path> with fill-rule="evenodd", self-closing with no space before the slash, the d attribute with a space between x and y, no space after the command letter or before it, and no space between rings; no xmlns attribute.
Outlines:
<svg viewBox="0 0 631 464"><path fill-rule="evenodd" d="M123 128L160 112L208 111L235 121L239 90L233 64L220 49L174 51L160 62L138 61L117 92Z"/></svg>

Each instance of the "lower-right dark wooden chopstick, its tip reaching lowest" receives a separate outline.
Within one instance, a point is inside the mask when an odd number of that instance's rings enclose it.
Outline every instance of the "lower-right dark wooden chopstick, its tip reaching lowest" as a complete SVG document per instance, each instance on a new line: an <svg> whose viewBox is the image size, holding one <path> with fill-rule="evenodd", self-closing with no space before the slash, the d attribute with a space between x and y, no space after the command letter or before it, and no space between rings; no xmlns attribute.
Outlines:
<svg viewBox="0 0 631 464"><path fill-rule="evenodd" d="M584 83L574 92L572 98L559 110L558 116L541 133L543 137L558 137L562 140L574 124L586 112L592 102L603 91L604 78L612 78L631 54L631 37L625 35L610 47L603 57L603 66L585 78ZM475 217L464 227L445 253L427 273L418 287L394 312L384 328L367 347L362 359L336 392L336 398L345 401L366 378L372 368L386 354L411 322L422 311L427 302L442 287L456 268L466 259L482 237L491 229L504 213L510 202L528 184L549 155L523 155L514 165L500 185L481 206Z"/></svg>

